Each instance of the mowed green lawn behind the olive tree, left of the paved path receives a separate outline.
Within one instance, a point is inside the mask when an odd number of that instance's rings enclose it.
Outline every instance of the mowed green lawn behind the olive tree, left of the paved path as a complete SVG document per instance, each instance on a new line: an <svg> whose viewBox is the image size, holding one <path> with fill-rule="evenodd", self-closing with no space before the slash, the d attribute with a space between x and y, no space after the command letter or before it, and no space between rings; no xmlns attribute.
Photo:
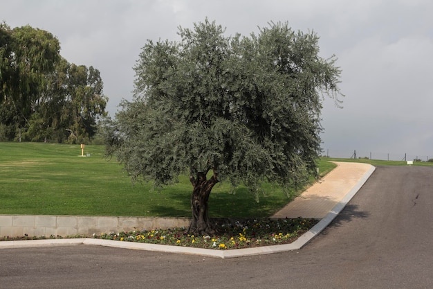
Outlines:
<svg viewBox="0 0 433 289"><path fill-rule="evenodd" d="M78 216L189 217L192 186L187 176L163 191L136 182L115 159L104 158L104 146L52 143L0 143L0 214ZM320 161L320 173L335 167ZM311 180L313 182L313 179ZM240 186L234 193L228 184L217 184L210 195L211 218L266 218L284 207L290 195L272 184L255 195Z"/></svg>

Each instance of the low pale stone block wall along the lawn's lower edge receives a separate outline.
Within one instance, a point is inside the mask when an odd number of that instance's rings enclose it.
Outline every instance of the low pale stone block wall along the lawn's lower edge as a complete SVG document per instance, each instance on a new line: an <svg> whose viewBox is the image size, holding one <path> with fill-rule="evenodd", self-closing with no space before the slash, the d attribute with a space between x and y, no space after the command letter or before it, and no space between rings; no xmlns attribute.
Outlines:
<svg viewBox="0 0 433 289"><path fill-rule="evenodd" d="M0 215L0 237L74 236L188 227L190 218Z"/></svg>

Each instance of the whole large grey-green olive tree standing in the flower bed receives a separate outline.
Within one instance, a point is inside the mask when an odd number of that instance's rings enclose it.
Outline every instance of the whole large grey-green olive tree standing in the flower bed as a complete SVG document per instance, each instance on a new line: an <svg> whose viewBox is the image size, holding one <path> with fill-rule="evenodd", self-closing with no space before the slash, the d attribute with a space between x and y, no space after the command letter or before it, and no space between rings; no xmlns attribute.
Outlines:
<svg viewBox="0 0 433 289"><path fill-rule="evenodd" d="M193 234L212 233L215 184L257 193L315 173L322 94L338 103L340 69L320 58L315 33L273 24L225 37L210 22L179 28L180 42L149 41L136 67L135 97L116 114L108 153L133 178L156 186L188 172Z"/></svg>

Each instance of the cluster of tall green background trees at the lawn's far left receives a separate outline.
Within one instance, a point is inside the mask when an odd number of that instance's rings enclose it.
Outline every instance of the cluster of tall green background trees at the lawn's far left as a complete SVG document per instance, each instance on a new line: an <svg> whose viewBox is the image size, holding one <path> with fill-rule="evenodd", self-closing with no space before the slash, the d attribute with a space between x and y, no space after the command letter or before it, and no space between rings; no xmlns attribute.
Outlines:
<svg viewBox="0 0 433 289"><path fill-rule="evenodd" d="M0 141L86 143L105 116L100 71L69 63L46 30L0 24Z"/></svg>

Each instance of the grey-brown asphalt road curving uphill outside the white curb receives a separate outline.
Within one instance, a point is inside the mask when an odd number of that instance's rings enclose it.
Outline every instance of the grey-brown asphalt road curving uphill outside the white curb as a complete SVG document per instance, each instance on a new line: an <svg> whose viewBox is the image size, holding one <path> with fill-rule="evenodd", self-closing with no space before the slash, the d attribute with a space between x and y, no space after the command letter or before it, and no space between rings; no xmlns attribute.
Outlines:
<svg viewBox="0 0 433 289"><path fill-rule="evenodd" d="M0 288L433 288L433 168L378 167L306 247L212 259L89 245L0 250Z"/></svg>

